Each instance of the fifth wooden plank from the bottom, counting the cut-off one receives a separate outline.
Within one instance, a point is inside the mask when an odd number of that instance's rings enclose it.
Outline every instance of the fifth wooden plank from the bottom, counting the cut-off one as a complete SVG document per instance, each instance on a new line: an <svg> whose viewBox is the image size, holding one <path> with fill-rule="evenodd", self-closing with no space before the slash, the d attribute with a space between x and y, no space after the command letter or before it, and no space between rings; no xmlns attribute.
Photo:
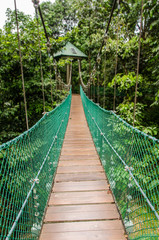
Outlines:
<svg viewBox="0 0 159 240"><path fill-rule="evenodd" d="M70 181L96 181L105 180L104 172L88 172L88 173L63 173L56 174L55 182L70 182Z"/></svg>

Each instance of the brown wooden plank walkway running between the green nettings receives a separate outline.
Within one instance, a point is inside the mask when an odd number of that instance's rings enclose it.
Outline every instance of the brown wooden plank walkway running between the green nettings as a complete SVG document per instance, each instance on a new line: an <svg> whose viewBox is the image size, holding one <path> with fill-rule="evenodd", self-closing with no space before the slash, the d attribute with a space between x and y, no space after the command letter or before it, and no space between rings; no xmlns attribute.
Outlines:
<svg viewBox="0 0 159 240"><path fill-rule="evenodd" d="M79 95L70 119L40 240L125 240Z"/></svg>

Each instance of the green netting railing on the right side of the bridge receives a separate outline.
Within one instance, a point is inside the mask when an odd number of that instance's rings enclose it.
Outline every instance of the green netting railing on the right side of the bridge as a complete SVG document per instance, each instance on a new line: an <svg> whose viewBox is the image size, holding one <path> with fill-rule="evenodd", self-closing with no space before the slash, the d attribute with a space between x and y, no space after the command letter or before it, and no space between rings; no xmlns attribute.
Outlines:
<svg viewBox="0 0 159 240"><path fill-rule="evenodd" d="M159 239L159 140L81 98L129 239Z"/></svg>

